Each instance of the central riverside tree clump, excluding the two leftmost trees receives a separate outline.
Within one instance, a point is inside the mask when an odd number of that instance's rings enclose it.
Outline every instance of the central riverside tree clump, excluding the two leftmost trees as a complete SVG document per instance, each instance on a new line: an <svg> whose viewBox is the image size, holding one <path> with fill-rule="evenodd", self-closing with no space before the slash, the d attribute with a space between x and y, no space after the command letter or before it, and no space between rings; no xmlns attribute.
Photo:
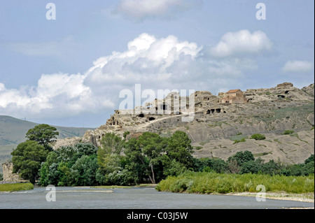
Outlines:
<svg viewBox="0 0 315 223"><path fill-rule="evenodd" d="M176 131L166 138L144 133L126 142L105 134L100 148L78 143L48 154L39 170L39 185L97 186L159 182L193 168L193 148L187 134ZM122 154L124 152L124 155Z"/></svg>

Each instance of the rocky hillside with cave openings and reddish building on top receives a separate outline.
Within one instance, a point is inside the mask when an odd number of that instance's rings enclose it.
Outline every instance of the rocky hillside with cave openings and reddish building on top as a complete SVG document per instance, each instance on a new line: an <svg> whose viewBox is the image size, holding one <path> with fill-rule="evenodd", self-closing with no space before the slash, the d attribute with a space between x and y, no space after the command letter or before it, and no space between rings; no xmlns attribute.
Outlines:
<svg viewBox="0 0 315 223"><path fill-rule="evenodd" d="M286 130L294 132L283 135ZM299 89L285 82L268 89L237 89L218 96L207 91L190 96L172 92L146 107L116 110L103 126L86 131L83 138L57 141L55 148L79 141L99 145L106 132L123 136L126 131L130 132L127 139L146 131L163 136L185 131L195 157L227 159L249 150L265 161L301 163L314 154L314 84ZM255 141L252 134L265 134L266 139ZM243 142L235 143L242 138Z"/></svg>

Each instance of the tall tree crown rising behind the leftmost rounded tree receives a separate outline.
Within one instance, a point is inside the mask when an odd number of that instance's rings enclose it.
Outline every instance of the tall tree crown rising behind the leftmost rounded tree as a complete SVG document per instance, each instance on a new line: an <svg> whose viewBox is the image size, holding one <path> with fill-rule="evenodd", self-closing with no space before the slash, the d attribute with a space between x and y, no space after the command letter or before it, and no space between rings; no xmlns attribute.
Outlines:
<svg viewBox="0 0 315 223"><path fill-rule="evenodd" d="M30 141L36 141L45 148L50 148L49 144L54 142L59 136L59 132L55 127L51 127L48 124L39 124L33 129L29 129L26 134L26 138Z"/></svg>

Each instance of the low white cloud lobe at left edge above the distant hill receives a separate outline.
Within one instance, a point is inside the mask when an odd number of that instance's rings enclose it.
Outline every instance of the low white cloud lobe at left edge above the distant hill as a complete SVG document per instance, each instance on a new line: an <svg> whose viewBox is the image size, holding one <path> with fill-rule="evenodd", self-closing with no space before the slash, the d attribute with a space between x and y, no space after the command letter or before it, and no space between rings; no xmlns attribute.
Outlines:
<svg viewBox="0 0 315 223"><path fill-rule="evenodd" d="M0 113L29 117L66 117L113 108L110 100L92 97L90 87L83 84L84 78L85 75L80 74L43 74L37 86L22 86L20 89L6 89L0 83Z"/></svg>

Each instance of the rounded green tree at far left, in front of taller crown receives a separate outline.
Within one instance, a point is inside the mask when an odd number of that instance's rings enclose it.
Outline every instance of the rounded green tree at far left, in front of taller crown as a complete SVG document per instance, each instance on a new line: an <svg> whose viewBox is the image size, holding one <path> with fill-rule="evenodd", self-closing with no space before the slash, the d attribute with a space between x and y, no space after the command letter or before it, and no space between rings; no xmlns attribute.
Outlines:
<svg viewBox="0 0 315 223"><path fill-rule="evenodd" d="M41 163L45 161L49 151L36 141L20 143L12 154L13 173L18 173L25 180L34 183L38 179Z"/></svg>

